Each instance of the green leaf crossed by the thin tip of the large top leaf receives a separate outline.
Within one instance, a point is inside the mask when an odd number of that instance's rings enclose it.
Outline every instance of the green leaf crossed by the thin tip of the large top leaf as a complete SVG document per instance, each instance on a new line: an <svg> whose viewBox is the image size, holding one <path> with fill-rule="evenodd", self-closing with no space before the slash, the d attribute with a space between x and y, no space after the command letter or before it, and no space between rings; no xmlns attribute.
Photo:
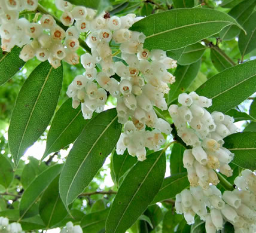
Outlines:
<svg viewBox="0 0 256 233"><path fill-rule="evenodd" d="M243 25L245 21L248 19L248 16L254 10L256 1L255 0L246 0L237 4L234 8L232 8L228 14L232 16L240 25ZM230 25L225 27L220 32L220 38L223 40L230 40L235 38L240 32L239 27Z"/></svg>

